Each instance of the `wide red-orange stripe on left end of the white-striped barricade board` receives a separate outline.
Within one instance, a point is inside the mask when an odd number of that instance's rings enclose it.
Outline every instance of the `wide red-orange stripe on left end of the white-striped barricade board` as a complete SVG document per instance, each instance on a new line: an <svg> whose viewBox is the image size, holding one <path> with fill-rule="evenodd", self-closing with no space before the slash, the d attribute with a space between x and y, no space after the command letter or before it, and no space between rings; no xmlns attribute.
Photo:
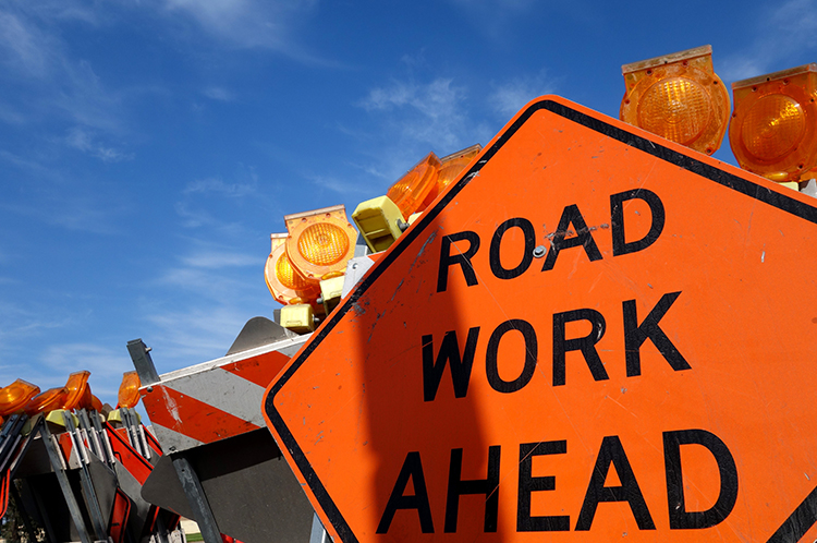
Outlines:
<svg viewBox="0 0 817 543"><path fill-rule="evenodd" d="M203 443L212 443L260 426L185 396L163 385L142 397L154 424L164 426Z"/></svg>

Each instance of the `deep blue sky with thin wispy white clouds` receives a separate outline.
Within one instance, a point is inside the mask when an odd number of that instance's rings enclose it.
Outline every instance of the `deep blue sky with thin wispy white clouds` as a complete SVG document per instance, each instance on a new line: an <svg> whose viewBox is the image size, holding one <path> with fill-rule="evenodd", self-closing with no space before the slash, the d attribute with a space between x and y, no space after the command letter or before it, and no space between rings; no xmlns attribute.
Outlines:
<svg viewBox="0 0 817 543"><path fill-rule="evenodd" d="M167 372L271 316L284 214L351 213L542 94L618 117L621 64L711 44L730 84L815 33L805 0L3 0L0 385L90 370L113 403L127 340Z"/></svg>

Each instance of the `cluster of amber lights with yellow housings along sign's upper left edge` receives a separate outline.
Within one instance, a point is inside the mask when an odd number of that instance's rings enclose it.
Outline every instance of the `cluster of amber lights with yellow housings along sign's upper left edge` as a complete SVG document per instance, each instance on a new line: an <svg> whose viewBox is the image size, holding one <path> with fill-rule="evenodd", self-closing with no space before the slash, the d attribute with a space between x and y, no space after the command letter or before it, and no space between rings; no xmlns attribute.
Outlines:
<svg viewBox="0 0 817 543"><path fill-rule="evenodd" d="M401 232L463 171L479 153L474 145L437 158L429 153L388 190L385 196L357 206L352 220L342 205L284 216L288 233L271 234L272 251L265 278L284 306L280 324L296 333L315 329L338 304L346 264L358 248L357 231L366 242L363 253L385 251Z"/></svg>

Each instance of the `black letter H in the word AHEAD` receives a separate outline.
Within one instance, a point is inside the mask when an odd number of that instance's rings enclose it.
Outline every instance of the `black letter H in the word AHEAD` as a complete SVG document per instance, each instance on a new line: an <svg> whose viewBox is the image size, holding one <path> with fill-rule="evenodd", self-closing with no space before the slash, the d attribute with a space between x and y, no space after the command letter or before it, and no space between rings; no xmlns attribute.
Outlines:
<svg viewBox="0 0 817 543"><path fill-rule="evenodd" d="M462 481L462 449L451 449L451 464L448 472L448 496L446 497L446 533L456 532L456 517L460 511L460 496L485 494L485 521L483 530L497 531L499 516L499 445L488 447L488 476Z"/></svg>

